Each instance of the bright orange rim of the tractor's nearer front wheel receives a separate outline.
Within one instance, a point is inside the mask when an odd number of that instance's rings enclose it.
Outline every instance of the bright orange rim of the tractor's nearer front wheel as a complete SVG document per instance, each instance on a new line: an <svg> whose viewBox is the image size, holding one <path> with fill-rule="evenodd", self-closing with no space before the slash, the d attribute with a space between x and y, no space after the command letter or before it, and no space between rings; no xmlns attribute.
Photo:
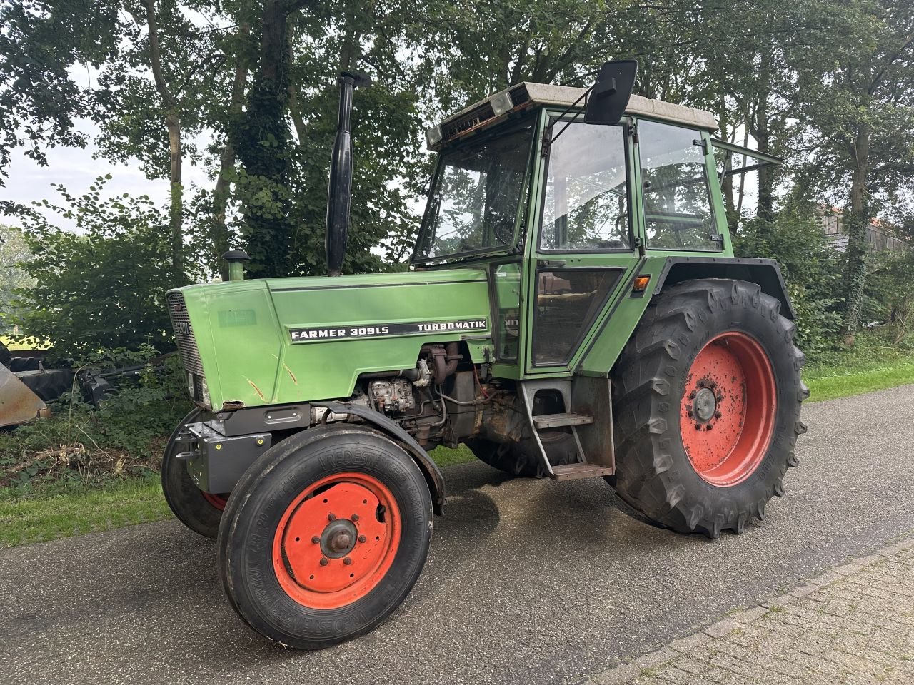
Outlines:
<svg viewBox="0 0 914 685"><path fill-rule="evenodd" d="M315 609L334 609L370 593L399 549L402 522L388 487L366 473L315 481L282 514L272 562L282 589Z"/></svg>

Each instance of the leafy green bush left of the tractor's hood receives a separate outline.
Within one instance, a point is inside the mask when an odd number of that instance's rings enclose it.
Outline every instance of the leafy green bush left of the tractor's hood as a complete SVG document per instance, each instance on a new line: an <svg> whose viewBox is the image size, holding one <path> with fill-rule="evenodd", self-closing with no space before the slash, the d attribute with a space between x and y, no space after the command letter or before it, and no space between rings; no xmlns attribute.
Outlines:
<svg viewBox="0 0 914 685"><path fill-rule="evenodd" d="M57 185L64 205L39 205L74 221L78 233L38 211L27 216L32 255L22 268L35 286L18 291L8 322L23 336L50 341L58 356L172 345L165 290L186 282L169 275L168 219L146 196L102 199L105 180L79 196Z"/></svg>

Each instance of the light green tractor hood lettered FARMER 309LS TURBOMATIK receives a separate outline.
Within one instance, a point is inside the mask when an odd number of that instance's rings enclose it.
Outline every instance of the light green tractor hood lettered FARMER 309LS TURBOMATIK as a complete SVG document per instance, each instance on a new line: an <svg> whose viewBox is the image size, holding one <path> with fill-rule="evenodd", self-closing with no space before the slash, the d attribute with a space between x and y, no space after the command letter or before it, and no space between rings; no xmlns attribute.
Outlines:
<svg viewBox="0 0 914 685"><path fill-rule="evenodd" d="M412 368L423 344L491 337L484 269L244 280L180 291L214 409L348 397L358 374Z"/></svg>

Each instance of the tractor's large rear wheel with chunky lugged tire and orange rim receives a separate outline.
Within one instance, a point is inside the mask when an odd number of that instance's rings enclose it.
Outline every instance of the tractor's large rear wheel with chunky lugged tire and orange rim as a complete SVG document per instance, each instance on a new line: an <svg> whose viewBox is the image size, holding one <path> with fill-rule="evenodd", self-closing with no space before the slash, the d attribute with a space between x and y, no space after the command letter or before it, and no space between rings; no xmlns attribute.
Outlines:
<svg viewBox="0 0 914 685"><path fill-rule="evenodd" d="M783 496L809 390L780 307L754 283L702 279L648 308L612 374L622 500L664 527L716 538L743 532Z"/></svg>

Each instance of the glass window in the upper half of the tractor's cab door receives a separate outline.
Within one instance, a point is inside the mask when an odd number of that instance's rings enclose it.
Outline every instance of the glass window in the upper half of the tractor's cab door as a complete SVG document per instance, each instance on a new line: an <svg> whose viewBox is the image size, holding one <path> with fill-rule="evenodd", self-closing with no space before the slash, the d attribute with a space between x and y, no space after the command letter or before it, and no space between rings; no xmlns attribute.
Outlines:
<svg viewBox="0 0 914 685"><path fill-rule="evenodd" d="M621 126L556 121L549 146L541 250L629 249L628 184ZM559 134L559 132L561 132Z"/></svg>

